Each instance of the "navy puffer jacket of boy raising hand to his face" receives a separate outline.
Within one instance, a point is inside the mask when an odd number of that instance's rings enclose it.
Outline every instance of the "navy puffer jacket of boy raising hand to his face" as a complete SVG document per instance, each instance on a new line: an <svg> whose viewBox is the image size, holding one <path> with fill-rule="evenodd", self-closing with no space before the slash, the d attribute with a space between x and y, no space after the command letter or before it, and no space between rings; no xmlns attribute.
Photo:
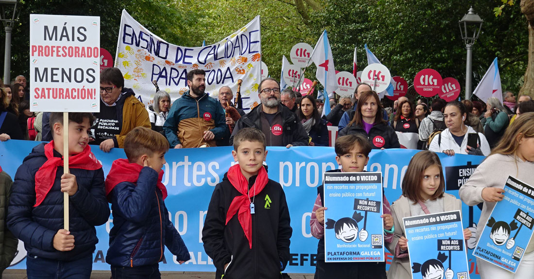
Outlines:
<svg viewBox="0 0 534 279"><path fill-rule="evenodd" d="M182 237L169 220L169 211L156 187L158 173L144 167L137 185L117 184L108 198L113 212L106 262L116 267L154 265L163 259L163 245L177 260L190 259Z"/></svg>

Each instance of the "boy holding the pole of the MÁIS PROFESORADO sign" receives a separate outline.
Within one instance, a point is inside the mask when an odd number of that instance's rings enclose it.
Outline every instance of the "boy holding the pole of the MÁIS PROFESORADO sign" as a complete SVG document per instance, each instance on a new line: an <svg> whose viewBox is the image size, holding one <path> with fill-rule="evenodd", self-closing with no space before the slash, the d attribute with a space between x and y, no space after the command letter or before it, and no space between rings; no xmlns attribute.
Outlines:
<svg viewBox="0 0 534 279"><path fill-rule="evenodd" d="M88 145L91 113L50 114L53 141L37 145L15 174L7 227L24 242L28 278L90 278L98 243L95 226L106 223L109 206L104 172ZM63 133L68 129L69 173L63 170ZM69 231L64 224L69 196Z"/></svg>

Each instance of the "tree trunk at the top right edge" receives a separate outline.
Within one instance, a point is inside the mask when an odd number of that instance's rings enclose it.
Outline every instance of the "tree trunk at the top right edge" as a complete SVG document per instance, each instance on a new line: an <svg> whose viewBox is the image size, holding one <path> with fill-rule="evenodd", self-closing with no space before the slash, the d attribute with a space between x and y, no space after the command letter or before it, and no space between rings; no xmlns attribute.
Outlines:
<svg viewBox="0 0 534 279"><path fill-rule="evenodd" d="M534 99L534 0L521 0L521 12L529 22L529 63L525 72L524 84L520 95L529 95Z"/></svg>

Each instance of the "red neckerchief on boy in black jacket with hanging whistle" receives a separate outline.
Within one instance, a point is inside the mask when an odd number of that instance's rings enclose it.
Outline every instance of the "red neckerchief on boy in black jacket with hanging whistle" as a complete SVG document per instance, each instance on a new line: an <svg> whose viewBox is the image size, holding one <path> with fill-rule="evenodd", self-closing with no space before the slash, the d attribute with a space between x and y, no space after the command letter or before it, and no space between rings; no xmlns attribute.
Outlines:
<svg viewBox="0 0 534 279"><path fill-rule="evenodd" d="M235 190L239 191L239 193L241 193L242 195L235 196L235 198L232 200L232 203L230 203L228 212L226 212L225 224L227 225L230 219L232 219L232 217L237 213L239 224L241 224L241 227L245 232L245 236L247 237L248 245L250 249L252 249L252 216L250 215L249 196L250 198L254 196L254 190L250 188L252 192L249 193L248 180L241 173L241 167L239 167L239 164L235 164L230 167L226 177L228 177L228 180L230 180L230 183L232 184L232 186L234 186ZM267 176L267 171L262 166L258 171L255 186L253 186L256 187L256 195L262 192L268 181L269 177Z"/></svg>

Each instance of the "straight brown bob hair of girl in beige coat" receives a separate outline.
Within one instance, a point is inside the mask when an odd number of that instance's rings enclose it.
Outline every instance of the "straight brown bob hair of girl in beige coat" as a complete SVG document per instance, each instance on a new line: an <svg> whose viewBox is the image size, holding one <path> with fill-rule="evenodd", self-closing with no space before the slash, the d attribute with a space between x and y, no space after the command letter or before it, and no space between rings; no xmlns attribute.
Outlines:
<svg viewBox="0 0 534 279"><path fill-rule="evenodd" d="M443 197L443 192L445 191L445 179L443 178L441 161L439 161L439 157L435 152L428 150L420 151L413 155L413 158L406 169L404 179L402 180L402 194L406 198L412 200L414 204L418 201L423 201L421 196L423 174L425 173L425 170L431 166L438 167L440 177L439 187L430 199L436 200L437 198Z"/></svg>

